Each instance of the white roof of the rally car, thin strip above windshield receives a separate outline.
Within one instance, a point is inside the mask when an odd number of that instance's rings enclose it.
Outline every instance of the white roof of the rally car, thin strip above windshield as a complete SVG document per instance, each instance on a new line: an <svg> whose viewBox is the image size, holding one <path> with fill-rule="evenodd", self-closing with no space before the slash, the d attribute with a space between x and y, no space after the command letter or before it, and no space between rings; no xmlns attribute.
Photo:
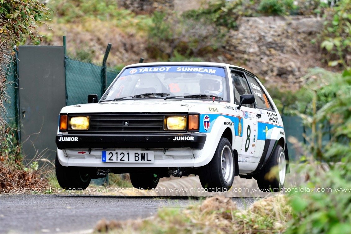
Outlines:
<svg viewBox="0 0 351 234"><path fill-rule="evenodd" d="M248 71L247 69L239 66L235 66L232 64L227 64L227 63L210 63L210 62L157 62L157 63L135 63L131 65L127 65L125 68L131 68L131 67L141 67L141 66L166 66L166 65L196 65L196 66L221 66L221 67L234 67L240 70L244 70L246 72L251 73L254 75L252 72ZM254 75L256 76L256 75ZM257 77L257 76L256 76ZM257 77L258 78L258 77Z"/></svg>

